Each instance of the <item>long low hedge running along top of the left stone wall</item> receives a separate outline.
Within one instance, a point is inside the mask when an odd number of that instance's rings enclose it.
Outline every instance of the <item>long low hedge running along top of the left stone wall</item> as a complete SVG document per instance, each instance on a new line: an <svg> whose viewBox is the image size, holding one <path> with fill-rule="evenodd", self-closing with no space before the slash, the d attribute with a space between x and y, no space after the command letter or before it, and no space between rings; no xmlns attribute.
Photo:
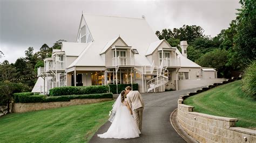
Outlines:
<svg viewBox="0 0 256 143"><path fill-rule="evenodd" d="M37 103L37 102L62 102L70 101L71 99L98 99L98 98L113 98L112 93L104 94L87 94L87 95L65 95L65 96L17 96L16 103Z"/></svg>

